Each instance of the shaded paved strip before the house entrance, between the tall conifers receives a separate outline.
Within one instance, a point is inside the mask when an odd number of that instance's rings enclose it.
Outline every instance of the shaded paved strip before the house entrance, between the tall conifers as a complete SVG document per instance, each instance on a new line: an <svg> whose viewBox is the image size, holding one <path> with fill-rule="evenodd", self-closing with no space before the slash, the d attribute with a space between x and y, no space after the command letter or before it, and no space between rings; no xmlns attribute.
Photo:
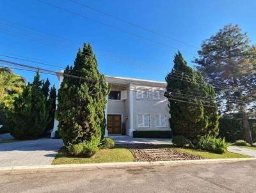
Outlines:
<svg viewBox="0 0 256 193"><path fill-rule="evenodd" d="M172 144L172 139L134 138L127 135L109 135L115 144Z"/></svg>

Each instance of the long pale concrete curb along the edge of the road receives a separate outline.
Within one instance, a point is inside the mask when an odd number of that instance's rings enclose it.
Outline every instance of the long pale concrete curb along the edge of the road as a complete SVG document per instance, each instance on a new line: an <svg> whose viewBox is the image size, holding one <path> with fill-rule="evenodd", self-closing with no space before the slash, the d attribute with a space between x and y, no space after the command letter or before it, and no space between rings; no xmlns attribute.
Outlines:
<svg viewBox="0 0 256 193"><path fill-rule="evenodd" d="M13 166L0 167L0 174L22 174L22 173L49 173L64 171L83 171L93 169L108 169L122 167L141 167L141 166L175 166L178 164L216 164L225 162L241 162L256 160L256 158L221 158L204 160L179 160L161 162L111 162L102 164L63 164L63 165L41 165L41 166Z"/></svg>

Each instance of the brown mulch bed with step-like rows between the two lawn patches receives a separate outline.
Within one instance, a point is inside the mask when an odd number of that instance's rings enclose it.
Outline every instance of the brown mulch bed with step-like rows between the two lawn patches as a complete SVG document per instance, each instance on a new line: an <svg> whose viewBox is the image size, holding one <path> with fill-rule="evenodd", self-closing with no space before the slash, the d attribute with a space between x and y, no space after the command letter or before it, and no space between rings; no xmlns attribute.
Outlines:
<svg viewBox="0 0 256 193"><path fill-rule="evenodd" d="M136 162L156 162L170 160L198 160L203 159L199 155L192 155L166 146L156 146L151 144L127 145Z"/></svg>

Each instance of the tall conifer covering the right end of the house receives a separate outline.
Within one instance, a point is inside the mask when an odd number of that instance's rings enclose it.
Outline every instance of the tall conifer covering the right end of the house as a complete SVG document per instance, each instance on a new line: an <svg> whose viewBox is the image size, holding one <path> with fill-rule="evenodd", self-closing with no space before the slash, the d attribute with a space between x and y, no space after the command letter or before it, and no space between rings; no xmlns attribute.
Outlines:
<svg viewBox="0 0 256 193"><path fill-rule="evenodd" d="M188 139L195 139L198 135L218 135L214 89L205 83L200 73L187 65L180 52L175 54L173 62L172 72L166 76L165 93L169 100L173 135L184 135Z"/></svg>

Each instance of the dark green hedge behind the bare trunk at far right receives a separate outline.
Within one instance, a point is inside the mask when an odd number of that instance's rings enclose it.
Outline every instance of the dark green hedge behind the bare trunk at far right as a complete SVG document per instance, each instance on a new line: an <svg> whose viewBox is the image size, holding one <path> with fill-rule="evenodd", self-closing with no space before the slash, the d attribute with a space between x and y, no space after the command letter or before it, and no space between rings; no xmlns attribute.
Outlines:
<svg viewBox="0 0 256 193"><path fill-rule="evenodd" d="M236 140L245 140L243 123L241 119L220 118L220 137L225 137L228 142L235 142ZM252 131L253 142L256 141L256 120L249 120Z"/></svg>

